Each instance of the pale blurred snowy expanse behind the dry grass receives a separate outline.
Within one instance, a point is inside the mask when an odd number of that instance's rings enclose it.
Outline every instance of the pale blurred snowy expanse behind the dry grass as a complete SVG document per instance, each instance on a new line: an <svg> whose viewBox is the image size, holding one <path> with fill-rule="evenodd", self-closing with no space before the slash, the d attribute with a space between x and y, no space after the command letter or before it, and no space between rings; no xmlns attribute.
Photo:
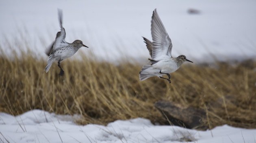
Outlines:
<svg viewBox="0 0 256 143"><path fill-rule="evenodd" d="M147 59L141 36L151 39L150 20L158 9L173 42L173 56L192 61L256 56L256 0L0 0L0 44L15 48L22 39L38 55L59 31L57 8L63 9L67 42L81 39L98 58ZM199 10L191 15L189 8ZM8 50L8 49L6 49ZM7 52L8 53L8 52ZM210 55L210 56L209 56Z"/></svg>

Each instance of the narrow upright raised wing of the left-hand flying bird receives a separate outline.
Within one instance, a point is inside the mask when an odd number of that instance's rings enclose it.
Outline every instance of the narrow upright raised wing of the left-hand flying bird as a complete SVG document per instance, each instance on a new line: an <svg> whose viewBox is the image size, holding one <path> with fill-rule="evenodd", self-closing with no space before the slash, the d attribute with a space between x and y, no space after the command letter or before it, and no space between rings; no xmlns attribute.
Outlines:
<svg viewBox="0 0 256 143"><path fill-rule="evenodd" d="M64 27L62 26L62 10L61 9L58 9L58 15L59 15L59 23L60 23L61 31L56 34L55 42L53 44L53 50L58 48L59 45L63 43L67 43L65 41L66 32Z"/></svg>

